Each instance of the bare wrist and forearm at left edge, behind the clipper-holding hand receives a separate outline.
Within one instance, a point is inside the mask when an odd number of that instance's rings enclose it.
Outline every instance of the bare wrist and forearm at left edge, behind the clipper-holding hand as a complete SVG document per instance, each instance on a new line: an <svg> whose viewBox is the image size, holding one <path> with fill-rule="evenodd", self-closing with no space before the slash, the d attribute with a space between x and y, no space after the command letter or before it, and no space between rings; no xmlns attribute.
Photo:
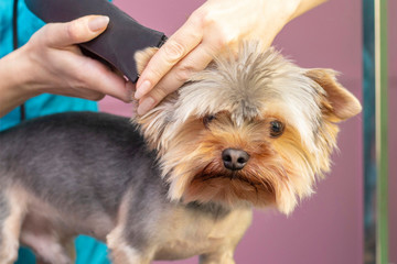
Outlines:
<svg viewBox="0 0 397 264"><path fill-rule="evenodd" d="M0 59L0 117L37 95L29 87L29 66L23 51L18 50Z"/></svg>

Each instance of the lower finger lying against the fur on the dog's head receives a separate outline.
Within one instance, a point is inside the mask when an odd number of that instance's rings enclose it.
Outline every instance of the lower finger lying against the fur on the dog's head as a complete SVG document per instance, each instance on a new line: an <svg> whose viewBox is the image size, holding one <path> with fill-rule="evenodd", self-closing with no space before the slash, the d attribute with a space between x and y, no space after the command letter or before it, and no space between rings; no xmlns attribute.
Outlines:
<svg viewBox="0 0 397 264"><path fill-rule="evenodd" d="M213 59L206 45L198 45L193 52L173 67L158 85L139 101L137 113L142 116L169 94L181 87L194 73L204 69Z"/></svg>

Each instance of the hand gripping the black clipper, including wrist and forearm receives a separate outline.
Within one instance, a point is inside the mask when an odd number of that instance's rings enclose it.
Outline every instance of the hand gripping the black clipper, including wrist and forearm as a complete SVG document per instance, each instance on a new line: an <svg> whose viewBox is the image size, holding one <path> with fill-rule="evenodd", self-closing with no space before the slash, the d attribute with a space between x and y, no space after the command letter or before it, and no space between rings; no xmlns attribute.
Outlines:
<svg viewBox="0 0 397 264"><path fill-rule="evenodd" d="M50 23L24 46L1 58L0 117L43 92L92 100L110 95L130 101L133 85L84 56L76 45L98 36L108 23L109 19L101 15Z"/></svg>

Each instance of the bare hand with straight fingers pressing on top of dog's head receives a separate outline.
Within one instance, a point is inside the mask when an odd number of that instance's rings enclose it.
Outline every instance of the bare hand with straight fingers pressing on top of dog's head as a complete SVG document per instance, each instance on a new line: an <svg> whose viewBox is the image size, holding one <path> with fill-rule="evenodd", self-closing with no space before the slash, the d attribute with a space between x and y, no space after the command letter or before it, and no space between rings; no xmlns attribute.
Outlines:
<svg viewBox="0 0 397 264"><path fill-rule="evenodd" d="M204 69L226 47L258 40L266 48L291 19L324 0L208 0L192 13L143 69L135 97L143 114Z"/></svg>

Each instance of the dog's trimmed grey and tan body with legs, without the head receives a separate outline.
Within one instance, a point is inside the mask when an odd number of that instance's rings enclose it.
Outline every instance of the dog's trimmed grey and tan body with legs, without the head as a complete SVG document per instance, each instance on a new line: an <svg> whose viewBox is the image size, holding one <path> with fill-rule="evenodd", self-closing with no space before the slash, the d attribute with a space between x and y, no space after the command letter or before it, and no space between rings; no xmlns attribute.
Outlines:
<svg viewBox="0 0 397 264"><path fill-rule="evenodd" d="M169 201L155 154L127 118L50 116L0 133L0 263L12 263L19 238L45 262L71 263L62 246L77 234L109 234L117 263L230 263L250 223L250 208Z"/></svg>

